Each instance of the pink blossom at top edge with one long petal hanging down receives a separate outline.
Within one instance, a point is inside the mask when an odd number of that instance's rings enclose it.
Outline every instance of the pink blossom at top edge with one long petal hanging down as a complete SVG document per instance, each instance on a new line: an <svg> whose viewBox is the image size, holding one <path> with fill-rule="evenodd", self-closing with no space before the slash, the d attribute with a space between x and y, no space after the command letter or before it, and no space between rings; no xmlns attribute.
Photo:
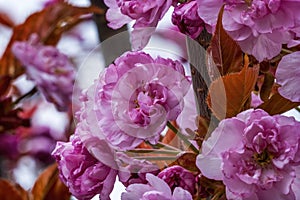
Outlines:
<svg viewBox="0 0 300 200"><path fill-rule="evenodd" d="M117 29L135 20L131 37L134 49L142 49L148 43L158 22L172 5L172 0L105 0L109 7L108 25Z"/></svg>

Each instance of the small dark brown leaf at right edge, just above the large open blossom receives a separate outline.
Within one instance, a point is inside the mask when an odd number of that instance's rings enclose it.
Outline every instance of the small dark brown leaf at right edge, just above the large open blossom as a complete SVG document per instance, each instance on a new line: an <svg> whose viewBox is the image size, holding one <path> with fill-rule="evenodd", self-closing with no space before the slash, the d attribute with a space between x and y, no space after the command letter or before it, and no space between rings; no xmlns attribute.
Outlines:
<svg viewBox="0 0 300 200"><path fill-rule="evenodd" d="M270 115L276 115L289 111L299 105L300 102L292 102L281 96L279 93L275 93L258 108L265 110Z"/></svg>

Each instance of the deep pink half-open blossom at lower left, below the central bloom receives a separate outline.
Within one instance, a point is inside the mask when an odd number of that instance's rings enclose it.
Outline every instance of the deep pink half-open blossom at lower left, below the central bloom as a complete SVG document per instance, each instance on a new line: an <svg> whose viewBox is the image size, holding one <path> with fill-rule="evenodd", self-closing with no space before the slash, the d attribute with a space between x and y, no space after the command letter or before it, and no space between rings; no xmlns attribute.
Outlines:
<svg viewBox="0 0 300 200"><path fill-rule="evenodd" d="M117 170L95 159L76 134L70 142L58 142L53 156L58 163L60 179L76 198L91 199L100 194L101 200L110 199Z"/></svg>

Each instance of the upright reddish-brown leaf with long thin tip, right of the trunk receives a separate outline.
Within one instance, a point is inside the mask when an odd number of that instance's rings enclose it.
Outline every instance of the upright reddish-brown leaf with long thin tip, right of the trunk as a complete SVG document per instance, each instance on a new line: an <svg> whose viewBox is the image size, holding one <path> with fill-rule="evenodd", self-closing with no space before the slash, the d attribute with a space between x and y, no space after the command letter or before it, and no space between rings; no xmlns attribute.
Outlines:
<svg viewBox="0 0 300 200"><path fill-rule="evenodd" d="M222 76L232 72L239 72L243 68L243 52L223 28L223 11L224 6L219 12L216 30L208 48L208 54L211 52L216 67Z"/></svg>

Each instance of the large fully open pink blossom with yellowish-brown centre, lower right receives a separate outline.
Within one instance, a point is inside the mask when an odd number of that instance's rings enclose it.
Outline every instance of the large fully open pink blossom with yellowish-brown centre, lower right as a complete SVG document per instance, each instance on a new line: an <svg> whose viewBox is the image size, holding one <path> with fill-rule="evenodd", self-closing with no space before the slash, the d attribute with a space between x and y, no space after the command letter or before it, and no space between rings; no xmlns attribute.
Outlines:
<svg viewBox="0 0 300 200"><path fill-rule="evenodd" d="M204 176L223 181L228 199L295 199L299 128L293 117L244 111L220 122L196 164Z"/></svg>

